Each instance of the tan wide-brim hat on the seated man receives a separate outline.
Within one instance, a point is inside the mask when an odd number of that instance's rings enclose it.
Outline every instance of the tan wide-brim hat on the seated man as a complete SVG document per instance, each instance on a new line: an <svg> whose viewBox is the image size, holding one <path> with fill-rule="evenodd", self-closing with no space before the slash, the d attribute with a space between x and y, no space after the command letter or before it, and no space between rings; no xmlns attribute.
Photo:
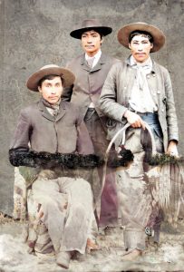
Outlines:
<svg viewBox="0 0 184 272"><path fill-rule="evenodd" d="M48 64L44 65L28 78L26 83L27 88L31 91L38 92L38 83L42 78L44 78L44 76L50 74L61 76L63 87L71 86L75 80L75 76L70 70L59 67L55 64Z"/></svg>

